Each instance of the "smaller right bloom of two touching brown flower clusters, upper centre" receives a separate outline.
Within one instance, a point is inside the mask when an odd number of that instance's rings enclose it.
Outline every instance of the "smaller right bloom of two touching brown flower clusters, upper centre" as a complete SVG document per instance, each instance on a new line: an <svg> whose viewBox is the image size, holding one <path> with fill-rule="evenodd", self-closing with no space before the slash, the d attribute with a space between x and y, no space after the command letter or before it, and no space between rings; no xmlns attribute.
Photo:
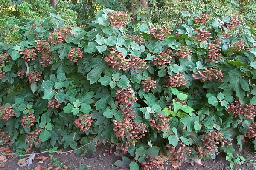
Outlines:
<svg viewBox="0 0 256 170"><path fill-rule="evenodd" d="M141 72L148 68L145 59L140 59L136 56L132 56L129 62L130 70L134 70L134 72Z"/></svg>

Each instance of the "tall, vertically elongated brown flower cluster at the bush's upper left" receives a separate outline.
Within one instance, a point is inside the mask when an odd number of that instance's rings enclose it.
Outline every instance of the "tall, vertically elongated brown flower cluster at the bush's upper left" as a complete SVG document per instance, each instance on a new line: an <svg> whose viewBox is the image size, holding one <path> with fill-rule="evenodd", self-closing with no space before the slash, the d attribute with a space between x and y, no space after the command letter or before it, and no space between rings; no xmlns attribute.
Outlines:
<svg viewBox="0 0 256 170"><path fill-rule="evenodd" d="M46 40L37 40L37 42L38 44L35 49L41 55L40 65L42 67L47 67L47 65L49 65L49 62L54 60L54 57L52 57L50 51L49 43Z"/></svg>

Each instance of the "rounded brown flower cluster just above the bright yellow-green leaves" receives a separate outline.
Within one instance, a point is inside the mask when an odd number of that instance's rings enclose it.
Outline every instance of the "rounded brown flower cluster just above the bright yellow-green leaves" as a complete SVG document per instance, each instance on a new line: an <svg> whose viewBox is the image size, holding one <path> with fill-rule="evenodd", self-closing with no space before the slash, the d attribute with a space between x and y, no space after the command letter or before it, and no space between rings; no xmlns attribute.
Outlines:
<svg viewBox="0 0 256 170"><path fill-rule="evenodd" d="M168 84L168 86L172 86L175 88L186 85L187 80L188 79L186 79L183 74L176 73L174 76L169 76L169 78L166 79L166 83Z"/></svg>

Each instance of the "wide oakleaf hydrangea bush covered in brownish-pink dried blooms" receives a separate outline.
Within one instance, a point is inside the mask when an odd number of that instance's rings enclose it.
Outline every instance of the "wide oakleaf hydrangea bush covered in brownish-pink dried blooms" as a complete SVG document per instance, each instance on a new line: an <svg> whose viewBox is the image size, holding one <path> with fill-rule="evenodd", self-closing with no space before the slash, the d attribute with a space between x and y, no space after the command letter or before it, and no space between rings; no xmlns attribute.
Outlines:
<svg viewBox="0 0 256 170"><path fill-rule="evenodd" d="M89 28L52 17L0 42L0 144L109 142L145 170L256 145L256 41L239 18L192 14L166 30L130 16L103 9Z"/></svg>

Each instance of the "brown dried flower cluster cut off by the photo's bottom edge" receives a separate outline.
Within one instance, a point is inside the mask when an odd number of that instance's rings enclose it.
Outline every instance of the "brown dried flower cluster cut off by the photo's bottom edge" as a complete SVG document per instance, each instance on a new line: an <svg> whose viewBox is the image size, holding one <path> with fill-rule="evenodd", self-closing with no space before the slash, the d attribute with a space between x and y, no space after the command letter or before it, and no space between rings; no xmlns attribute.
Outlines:
<svg viewBox="0 0 256 170"><path fill-rule="evenodd" d="M142 170L164 170L163 164L155 160L152 156L146 156L145 161L141 163Z"/></svg>

